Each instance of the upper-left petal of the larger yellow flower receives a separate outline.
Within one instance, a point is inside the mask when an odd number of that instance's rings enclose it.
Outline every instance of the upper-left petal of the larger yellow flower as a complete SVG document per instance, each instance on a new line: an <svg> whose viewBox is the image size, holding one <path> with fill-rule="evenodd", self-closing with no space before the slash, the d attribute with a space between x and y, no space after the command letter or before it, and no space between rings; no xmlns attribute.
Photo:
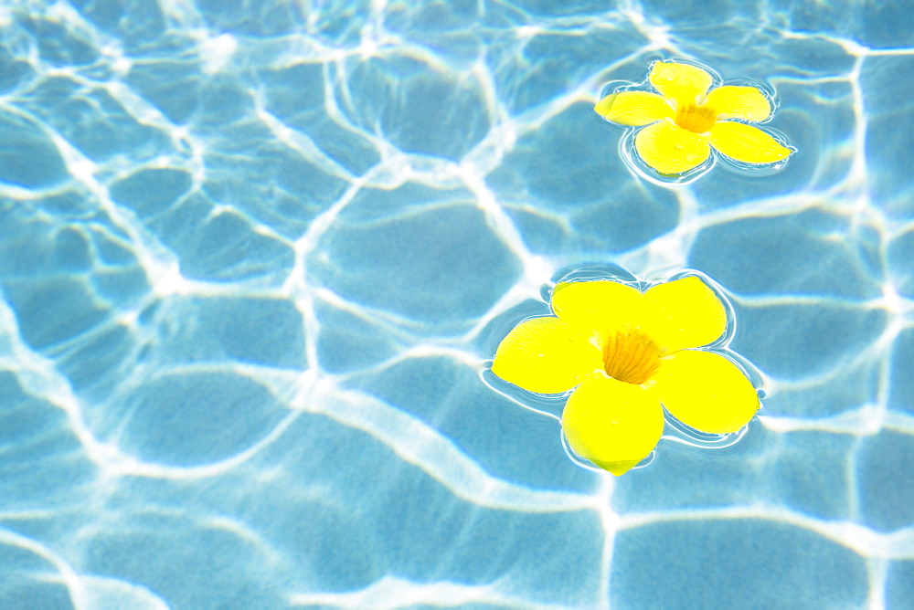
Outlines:
<svg viewBox="0 0 914 610"><path fill-rule="evenodd" d="M608 331L620 323L642 324L644 295L615 281L565 282L552 291L552 310L576 327Z"/></svg>

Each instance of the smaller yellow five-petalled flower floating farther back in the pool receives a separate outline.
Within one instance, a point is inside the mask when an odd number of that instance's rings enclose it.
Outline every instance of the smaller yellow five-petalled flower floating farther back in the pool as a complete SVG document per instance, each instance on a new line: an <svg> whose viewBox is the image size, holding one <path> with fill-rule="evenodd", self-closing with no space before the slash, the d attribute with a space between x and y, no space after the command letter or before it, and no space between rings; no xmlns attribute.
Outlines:
<svg viewBox="0 0 914 610"><path fill-rule="evenodd" d="M609 121L640 127L634 147L661 174L682 174L705 163L711 147L744 163L775 163L793 153L768 133L742 122L765 121L771 103L755 87L725 85L711 89L707 71L657 61L649 76L654 89L620 91L600 100L593 110Z"/></svg>

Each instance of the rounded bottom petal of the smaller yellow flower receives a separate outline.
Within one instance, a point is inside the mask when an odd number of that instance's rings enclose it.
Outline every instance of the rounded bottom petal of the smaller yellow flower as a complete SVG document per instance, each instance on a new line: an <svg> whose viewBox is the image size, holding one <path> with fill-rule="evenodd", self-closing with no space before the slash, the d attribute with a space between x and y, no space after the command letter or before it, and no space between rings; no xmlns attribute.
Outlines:
<svg viewBox="0 0 914 610"><path fill-rule="evenodd" d="M711 154L705 136L665 121L638 131L634 147L644 163L661 174L682 174L705 163Z"/></svg>

